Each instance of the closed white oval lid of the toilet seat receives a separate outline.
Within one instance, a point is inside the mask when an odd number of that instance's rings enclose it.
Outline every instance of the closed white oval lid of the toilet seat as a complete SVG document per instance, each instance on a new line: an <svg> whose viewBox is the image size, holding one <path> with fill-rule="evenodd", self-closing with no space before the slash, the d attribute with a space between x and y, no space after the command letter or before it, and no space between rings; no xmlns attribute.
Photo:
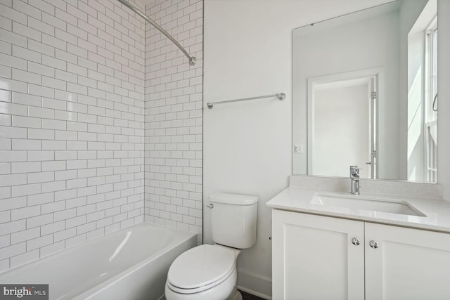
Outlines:
<svg viewBox="0 0 450 300"><path fill-rule="evenodd" d="M181 289L205 287L229 275L234 262L230 250L203 244L178 256L169 268L167 280Z"/></svg>

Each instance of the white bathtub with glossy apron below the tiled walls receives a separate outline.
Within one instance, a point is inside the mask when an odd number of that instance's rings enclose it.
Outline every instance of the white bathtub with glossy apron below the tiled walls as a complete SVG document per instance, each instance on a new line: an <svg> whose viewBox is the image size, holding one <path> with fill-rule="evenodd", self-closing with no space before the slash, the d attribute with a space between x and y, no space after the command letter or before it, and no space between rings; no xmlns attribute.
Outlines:
<svg viewBox="0 0 450 300"><path fill-rule="evenodd" d="M49 299L160 299L169 266L193 233L142 223L0 274L1 284L48 284Z"/></svg>

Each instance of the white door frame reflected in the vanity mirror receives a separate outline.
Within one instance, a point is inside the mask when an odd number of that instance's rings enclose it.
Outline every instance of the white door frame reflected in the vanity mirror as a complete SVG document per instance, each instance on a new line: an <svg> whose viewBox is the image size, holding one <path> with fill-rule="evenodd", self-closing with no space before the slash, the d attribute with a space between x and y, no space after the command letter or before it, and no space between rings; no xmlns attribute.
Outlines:
<svg viewBox="0 0 450 300"><path fill-rule="evenodd" d="M377 178L378 166L379 166L379 132L380 132L380 120L379 110L382 105L380 100L383 100L383 85L384 85L384 69L383 67L371 68L366 70L356 70L352 72L342 72L338 74L329 74L321 77L311 77L307 79L307 170L309 175L314 175L313 165L313 148L314 148L314 86L316 84L325 84L333 81L347 81L352 79L367 78L369 86L368 99L370 100L370 133L369 136L369 161L367 165L371 167L371 178ZM373 94L373 92L375 92ZM375 95L373 97L372 95ZM381 131L383 132L383 131ZM362 166L360 166L362 167ZM365 166L364 166L365 167Z"/></svg>

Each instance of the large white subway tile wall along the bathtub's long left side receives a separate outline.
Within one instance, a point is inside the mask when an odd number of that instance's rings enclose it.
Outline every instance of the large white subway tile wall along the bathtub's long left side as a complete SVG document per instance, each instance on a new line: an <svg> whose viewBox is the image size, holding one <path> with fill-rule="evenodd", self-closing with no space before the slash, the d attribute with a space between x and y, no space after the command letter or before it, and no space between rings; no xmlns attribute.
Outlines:
<svg viewBox="0 0 450 300"><path fill-rule="evenodd" d="M0 1L0 271L143 221L145 30L114 0Z"/></svg>

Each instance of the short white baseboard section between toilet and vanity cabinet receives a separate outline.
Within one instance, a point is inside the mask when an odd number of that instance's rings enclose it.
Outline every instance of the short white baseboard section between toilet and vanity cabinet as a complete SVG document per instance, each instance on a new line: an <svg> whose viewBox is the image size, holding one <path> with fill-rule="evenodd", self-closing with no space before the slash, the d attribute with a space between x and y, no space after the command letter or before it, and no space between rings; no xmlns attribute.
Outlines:
<svg viewBox="0 0 450 300"><path fill-rule="evenodd" d="M271 278L247 270L238 270L238 289L263 299L272 299Z"/></svg>

